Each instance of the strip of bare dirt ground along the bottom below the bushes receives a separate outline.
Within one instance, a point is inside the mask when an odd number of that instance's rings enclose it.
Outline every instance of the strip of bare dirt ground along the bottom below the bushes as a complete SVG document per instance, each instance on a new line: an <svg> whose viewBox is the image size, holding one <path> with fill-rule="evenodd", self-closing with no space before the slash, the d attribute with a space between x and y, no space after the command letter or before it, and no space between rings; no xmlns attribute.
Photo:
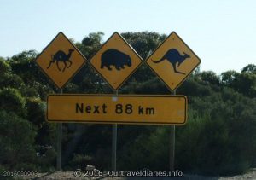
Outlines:
<svg viewBox="0 0 256 180"><path fill-rule="evenodd" d="M56 171L52 173L38 173L37 176L22 176L22 177L15 177L15 179L37 179L37 180L55 180L55 179L64 179L64 180L93 180L93 179L106 179L106 180L130 180L130 179L188 179L188 180L231 180L231 179L255 179L256 180L256 168L248 171L243 175L236 175L230 177L205 177L199 175L188 175L184 174L182 177L113 177L108 176L108 173L104 172L102 176L99 177L84 177L84 174L76 174L77 177L74 175L74 171Z"/></svg>

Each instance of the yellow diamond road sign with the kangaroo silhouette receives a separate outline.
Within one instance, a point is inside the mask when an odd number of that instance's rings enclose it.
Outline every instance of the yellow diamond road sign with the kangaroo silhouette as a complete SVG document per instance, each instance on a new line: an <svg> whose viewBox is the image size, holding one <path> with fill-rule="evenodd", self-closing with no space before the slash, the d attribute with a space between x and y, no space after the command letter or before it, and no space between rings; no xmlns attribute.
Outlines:
<svg viewBox="0 0 256 180"><path fill-rule="evenodd" d="M167 87L175 90L201 60L176 32L172 32L146 62Z"/></svg>

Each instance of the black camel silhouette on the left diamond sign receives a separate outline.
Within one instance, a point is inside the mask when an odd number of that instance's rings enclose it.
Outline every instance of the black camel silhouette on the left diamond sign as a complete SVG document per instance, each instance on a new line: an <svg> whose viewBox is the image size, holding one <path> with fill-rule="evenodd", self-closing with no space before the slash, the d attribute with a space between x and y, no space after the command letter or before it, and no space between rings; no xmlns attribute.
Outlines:
<svg viewBox="0 0 256 180"><path fill-rule="evenodd" d="M66 55L66 53L63 52L62 50L58 50L55 53L55 55L51 55L51 60L49 61L49 66L47 68L49 69L51 64L55 63L55 61L56 61L57 67L58 67L59 71L61 71L61 68L59 67L59 62L63 62L64 68L62 69L62 72L64 72L67 67L67 62L69 62L69 66L67 68L71 67L71 65L72 65L72 61L70 61L69 58L72 55L73 51L74 51L74 49L69 49L68 54Z"/></svg>

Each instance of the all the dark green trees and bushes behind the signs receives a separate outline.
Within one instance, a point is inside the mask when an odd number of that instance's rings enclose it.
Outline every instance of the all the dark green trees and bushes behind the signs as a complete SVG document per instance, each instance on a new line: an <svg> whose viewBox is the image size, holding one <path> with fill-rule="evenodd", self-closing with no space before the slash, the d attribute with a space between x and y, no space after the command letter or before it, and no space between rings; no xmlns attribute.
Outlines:
<svg viewBox="0 0 256 180"><path fill-rule="evenodd" d="M75 43L89 58L102 32ZM122 36L146 59L166 38L156 32ZM56 125L45 121L45 100L57 91L35 65L38 53L0 57L0 171L55 170ZM84 75L86 74L86 76ZM88 65L64 93L113 93ZM170 94L145 65L121 87L124 94ZM201 174L237 174L256 166L256 66L217 75L199 68L178 88L189 99L188 123L176 128L176 168ZM118 170L168 170L169 127L119 125ZM63 169L111 169L111 125L64 124Z"/></svg>

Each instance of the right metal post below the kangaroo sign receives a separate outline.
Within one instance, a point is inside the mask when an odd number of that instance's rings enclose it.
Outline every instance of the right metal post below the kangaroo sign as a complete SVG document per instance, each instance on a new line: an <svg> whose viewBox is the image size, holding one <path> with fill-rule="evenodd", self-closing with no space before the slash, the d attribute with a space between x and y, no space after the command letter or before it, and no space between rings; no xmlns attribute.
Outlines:
<svg viewBox="0 0 256 180"><path fill-rule="evenodd" d="M173 90L173 95L176 95L176 90ZM170 127L170 170L174 171L175 162L175 125Z"/></svg>

